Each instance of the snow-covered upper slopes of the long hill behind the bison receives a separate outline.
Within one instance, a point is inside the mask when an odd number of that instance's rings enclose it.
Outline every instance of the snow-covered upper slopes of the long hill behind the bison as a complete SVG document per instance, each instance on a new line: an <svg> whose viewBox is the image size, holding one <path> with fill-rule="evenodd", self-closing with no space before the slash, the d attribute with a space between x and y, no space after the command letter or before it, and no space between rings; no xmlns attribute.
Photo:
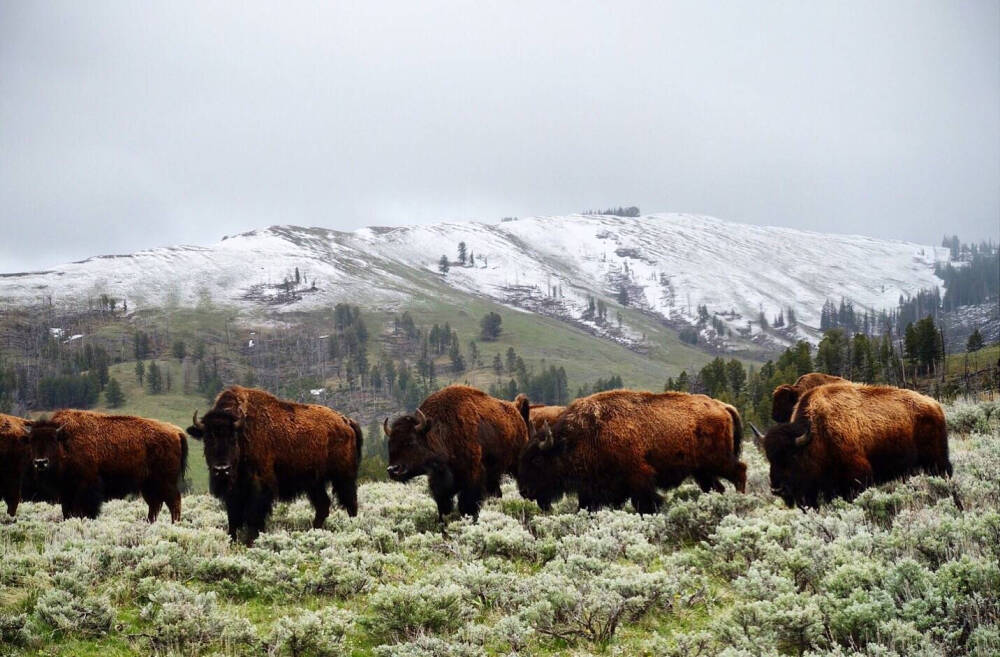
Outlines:
<svg viewBox="0 0 1000 657"><path fill-rule="evenodd" d="M459 242L473 255L471 264L456 262ZM442 255L452 261L444 275ZM589 297L614 307L624 288L630 306L676 324L692 323L700 305L734 329L748 319L756 324L761 310L772 317L792 306L801 324L816 327L828 298L878 310L895 306L901 294L941 285L934 264L947 258L939 247L680 214L347 233L273 226L208 247L99 256L0 275L0 301L79 303L109 294L126 298L130 310L206 299L247 311L309 310L338 301L398 308L444 285L587 323Z"/></svg>

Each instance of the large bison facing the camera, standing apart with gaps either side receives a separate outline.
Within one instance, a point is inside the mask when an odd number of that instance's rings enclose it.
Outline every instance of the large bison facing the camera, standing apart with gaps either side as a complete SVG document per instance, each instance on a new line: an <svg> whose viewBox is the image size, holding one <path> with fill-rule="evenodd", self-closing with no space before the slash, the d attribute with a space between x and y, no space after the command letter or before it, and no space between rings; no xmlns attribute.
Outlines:
<svg viewBox="0 0 1000 657"><path fill-rule="evenodd" d="M361 427L336 411L231 386L201 420L195 411L187 431L204 441L209 489L226 505L234 541L245 525L253 543L275 499L303 493L316 510L313 527L322 527L328 483L348 515L357 515Z"/></svg>

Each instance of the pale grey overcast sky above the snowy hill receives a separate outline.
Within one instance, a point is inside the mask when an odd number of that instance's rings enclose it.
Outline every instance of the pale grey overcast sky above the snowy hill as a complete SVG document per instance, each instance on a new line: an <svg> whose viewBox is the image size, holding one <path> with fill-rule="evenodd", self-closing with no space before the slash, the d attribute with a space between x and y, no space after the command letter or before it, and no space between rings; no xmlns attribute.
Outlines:
<svg viewBox="0 0 1000 657"><path fill-rule="evenodd" d="M997 240L998 34L995 1L0 0L0 271L618 204Z"/></svg>

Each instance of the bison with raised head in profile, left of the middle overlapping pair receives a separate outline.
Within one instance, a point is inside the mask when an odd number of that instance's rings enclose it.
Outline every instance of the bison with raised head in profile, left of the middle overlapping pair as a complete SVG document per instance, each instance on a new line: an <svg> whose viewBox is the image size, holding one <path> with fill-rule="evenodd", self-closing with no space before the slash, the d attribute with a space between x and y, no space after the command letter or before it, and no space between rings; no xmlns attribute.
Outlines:
<svg viewBox="0 0 1000 657"><path fill-rule="evenodd" d="M383 423L389 438L389 477L427 475L440 518L458 510L477 516L485 495L500 495L504 473L517 473L528 441L528 399L494 399L468 386L448 386L424 400L416 413Z"/></svg>

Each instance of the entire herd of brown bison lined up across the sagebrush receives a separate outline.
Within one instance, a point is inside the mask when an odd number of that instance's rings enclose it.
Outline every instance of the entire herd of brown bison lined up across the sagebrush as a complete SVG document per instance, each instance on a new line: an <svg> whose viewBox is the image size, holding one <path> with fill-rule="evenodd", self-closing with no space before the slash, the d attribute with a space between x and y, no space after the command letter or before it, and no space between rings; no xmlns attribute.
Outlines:
<svg viewBox="0 0 1000 657"><path fill-rule="evenodd" d="M766 435L750 425L770 464L771 491L788 506L851 499L865 488L924 471L951 475L944 413L910 390L807 374L774 391ZM542 509L567 493L596 510L631 502L639 513L662 503L660 489L688 477L705 492L746 488L739 412L705 395L614 390L568 406L495 399L468 386L435 392L383 429L394 481L426 475L441 520L457 498L477 516L499 497L504 475ZM0 415L0 489L7 512L21 499L58 503L63 516L94 518L106 499L141 495L149 522L164 504L181 514L187 436L202 441L212 495L229 534L253 542L275 500L306 495L314 527L330 513L332 488L357 514L362 434L325 406L232 386L186 431L137 417L64 410L38 420Z"/></svg>

